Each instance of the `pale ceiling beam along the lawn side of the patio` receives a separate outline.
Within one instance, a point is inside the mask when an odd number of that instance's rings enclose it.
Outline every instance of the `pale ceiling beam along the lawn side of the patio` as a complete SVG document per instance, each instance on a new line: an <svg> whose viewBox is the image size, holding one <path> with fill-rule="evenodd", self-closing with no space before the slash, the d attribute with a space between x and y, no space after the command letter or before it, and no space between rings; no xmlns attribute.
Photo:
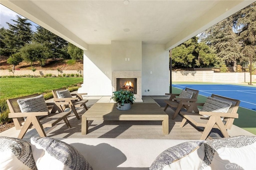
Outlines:
<svg viewBox="0 0 256 170"><path fill-rule="evenodd" d="M57 36L67 40L68 42L76 45L77 47L87 50L88 44L81 40L78 36L70 32L41 8L36 6L32 1L29 0L1 0L1 4L10 8L14 12L28 18L32 22L44 27L50 32ZM28 12L27 12L28 11Z"/></svg>

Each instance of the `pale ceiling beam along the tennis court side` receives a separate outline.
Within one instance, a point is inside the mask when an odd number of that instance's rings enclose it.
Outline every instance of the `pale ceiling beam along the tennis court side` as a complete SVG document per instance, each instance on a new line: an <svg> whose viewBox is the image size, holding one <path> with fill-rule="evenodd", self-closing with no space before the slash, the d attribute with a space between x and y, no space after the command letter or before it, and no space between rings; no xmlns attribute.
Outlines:
<svg viewBox="0 0 256 170"><path fill-rule="evenodd" d="M254 0L223 0L219 1L206 14L199 17L190 26L186 27L180 34L165 44L165 49L170 50L186 40L198 35L207 28L224 20L228 16L238 12L244 7L252 4Z"/></svg>

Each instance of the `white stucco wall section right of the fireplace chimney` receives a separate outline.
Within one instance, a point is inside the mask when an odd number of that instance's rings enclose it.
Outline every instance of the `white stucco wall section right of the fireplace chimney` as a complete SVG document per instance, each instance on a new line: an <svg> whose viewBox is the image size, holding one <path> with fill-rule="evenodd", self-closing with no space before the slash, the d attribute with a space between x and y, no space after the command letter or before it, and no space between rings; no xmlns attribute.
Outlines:
<svg viewBox="0 0 256 170"><path fill-rule="evenodd" d="M164 95L168 91L169 51L164 45L142 45L142 95Z"/></svg>

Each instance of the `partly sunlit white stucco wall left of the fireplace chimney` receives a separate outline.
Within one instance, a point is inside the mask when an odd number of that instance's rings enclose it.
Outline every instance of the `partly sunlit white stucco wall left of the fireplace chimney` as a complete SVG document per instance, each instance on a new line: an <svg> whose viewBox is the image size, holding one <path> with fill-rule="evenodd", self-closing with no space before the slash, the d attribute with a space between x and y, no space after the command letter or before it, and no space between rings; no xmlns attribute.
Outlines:
<svg viewBox="0 0 256 170"><path fill-rule="evenodd" d="M78 93L112 95L111 45L88 45L84 50L84 84Z"/></svg>

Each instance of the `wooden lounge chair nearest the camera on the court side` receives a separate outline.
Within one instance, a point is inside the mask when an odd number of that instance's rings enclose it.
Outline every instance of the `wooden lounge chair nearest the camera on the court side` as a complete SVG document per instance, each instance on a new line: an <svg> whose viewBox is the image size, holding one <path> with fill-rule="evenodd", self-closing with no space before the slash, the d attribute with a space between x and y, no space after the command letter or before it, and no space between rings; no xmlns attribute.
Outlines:
<svg viewBox="0 0 256 170"><path fill-rule="evenodd" d="M210 112L210 111L195 111L195 106L205 106L205 103L190 103L189 108L187 109L187 112L180 112L180 115L182 115L184 118L180 124L180 127L183 127L186 123L186 121L189 121L190 123L192 123L193 125L195 125L196 127L204 127L204 131L202 133L202 136L200 138L200 140L205 140L207 138L207 136L209 135L210 131L212 130L212 128L218 128L220 129L220 131L222 132L222 134L224 135L224 137L228 138L228 132L227 129L231 129L233 122L234 122L234 118L238 118L238 107L239 107L239 100L236 99L230 99L228 97L222 97L219 95L211 95L212 98L217 99L222 101L222 103L224 102L228 102L231 104L230 108L227 108L226 113L224 112L216 112L218 111L218 109L214 112ZM206 100L207 101L207 100ZM184 105L187 105L187 103L183 103ZM202 109L203 109L202 108ZM195 111L195 113L192 113L192 110ZM209 116L208 118L206 118L207 115ZM223 120L222 120L223 118Z"/></svg>

